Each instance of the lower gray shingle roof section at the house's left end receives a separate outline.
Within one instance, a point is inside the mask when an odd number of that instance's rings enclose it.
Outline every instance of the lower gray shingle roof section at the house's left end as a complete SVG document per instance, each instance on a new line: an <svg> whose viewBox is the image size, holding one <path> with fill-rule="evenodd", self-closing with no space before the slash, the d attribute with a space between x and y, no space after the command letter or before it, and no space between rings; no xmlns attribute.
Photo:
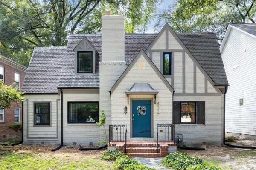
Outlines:
<svg viewBox="0 0 256 170"><path fill-rule="evenodd" d="M35 47L21 88L26 93L57 93L66 47Z"/></svg>

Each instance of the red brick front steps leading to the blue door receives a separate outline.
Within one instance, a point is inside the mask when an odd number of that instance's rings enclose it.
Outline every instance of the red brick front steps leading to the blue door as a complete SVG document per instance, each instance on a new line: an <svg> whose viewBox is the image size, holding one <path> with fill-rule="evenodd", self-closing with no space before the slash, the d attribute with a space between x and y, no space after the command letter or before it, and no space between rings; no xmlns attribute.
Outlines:
<svg viewBox="0 0 256 170"><path fill-rule="evenodd" d="M172 141L160 141L158 146L157 152L157 142L155 141L128 141L126 153L129 153L131 157L157 158L176 151L176 144ZM125 142L110 142L108 149L125 152Z"/></svg>

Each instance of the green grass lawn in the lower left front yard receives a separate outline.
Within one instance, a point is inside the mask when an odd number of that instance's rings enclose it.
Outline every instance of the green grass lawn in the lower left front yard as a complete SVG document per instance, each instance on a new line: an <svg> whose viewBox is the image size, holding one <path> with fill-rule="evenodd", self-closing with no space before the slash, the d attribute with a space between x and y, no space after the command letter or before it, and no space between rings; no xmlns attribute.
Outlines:
<svg viewBox="0 0 256 170"><path fill-rule="evenodd" d="M0 155L0 170L109 170L112 164L77 153L19 152Z"/></svg>

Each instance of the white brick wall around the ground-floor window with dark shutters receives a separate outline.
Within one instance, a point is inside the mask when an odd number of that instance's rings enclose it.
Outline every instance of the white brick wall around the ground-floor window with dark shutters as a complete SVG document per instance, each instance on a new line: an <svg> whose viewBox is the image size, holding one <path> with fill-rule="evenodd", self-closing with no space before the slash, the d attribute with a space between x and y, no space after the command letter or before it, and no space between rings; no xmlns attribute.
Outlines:
<svg viewBox="0 0 256 170"><path fill-rule="evenodd" d="M223 95L174 97L174 101L205 101L205 125L175 125L175 133L182 133L183 140L189 145L221 145L223 139Z"/></svg>

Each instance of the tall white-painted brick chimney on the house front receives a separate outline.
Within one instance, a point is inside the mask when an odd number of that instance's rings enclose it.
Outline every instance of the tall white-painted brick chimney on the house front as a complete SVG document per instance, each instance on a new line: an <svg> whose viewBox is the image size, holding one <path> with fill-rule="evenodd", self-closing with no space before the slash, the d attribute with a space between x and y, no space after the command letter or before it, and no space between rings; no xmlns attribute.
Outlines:
<svg viewBox="0 0 256 170"><path fill-rule="evenodd" d="M111 124L109 90L126 67L125 17L105 12L102 16L102 61L99 62L99 109L105 110L106 127ZM104 136L101 128L100 140L103 140Z"/></svg>

